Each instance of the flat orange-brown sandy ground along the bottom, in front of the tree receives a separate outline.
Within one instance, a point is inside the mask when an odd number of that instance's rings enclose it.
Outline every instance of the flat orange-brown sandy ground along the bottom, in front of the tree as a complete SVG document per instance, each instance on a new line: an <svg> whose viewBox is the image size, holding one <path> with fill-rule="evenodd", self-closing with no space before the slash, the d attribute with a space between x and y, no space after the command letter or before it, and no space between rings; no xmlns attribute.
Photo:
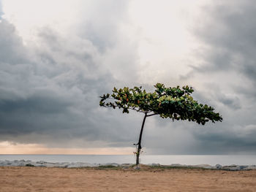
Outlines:
<svg viewBox="0 0 256 192"><path fill-rule="evenodd" d="M256 191L256 170L1 166L0 191Z"/></svg>

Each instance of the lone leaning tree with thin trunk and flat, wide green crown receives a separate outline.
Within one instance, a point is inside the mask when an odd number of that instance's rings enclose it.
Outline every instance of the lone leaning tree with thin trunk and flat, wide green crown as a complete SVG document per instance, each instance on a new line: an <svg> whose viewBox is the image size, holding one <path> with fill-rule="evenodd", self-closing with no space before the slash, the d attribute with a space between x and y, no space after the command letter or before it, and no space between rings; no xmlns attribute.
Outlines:
<svg viewBox="0 0 256 192"><path fill-rule="evenodd" d="M139 164L141 152L141 138L143 128L147 117L159 115L161 118L170 118L172 120L189 120L195 121L198 124L205 125L211 120L222 121L219 113L214 112L214 108L207 104L198 104L191 93L194 90L189 86L180 88L179 86L173 88L165 88L165 85L157 83L154 85L156 90L153 93L147 93L141 87L135 88L113 88L113 93L110 95L104 94L101 96L99 105L102 107L113 107L129 113L129 110L143 112L144 118L140 129L140 137L136 147L136 165ZM110 99L109 102L105 100Z"/></svg>

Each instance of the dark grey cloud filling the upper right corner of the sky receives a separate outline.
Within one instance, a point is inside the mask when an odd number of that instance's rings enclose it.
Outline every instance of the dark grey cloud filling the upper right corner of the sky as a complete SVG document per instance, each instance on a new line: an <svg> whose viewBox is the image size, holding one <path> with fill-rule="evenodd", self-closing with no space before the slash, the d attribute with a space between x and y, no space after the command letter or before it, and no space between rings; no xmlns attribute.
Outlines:
<svg viewBox="0 0 256 192"><path fill-rule="evenodd" d="M216 4L205 7L206 20L195 30L197 37L208 45L208 51L203 52L206 56L201 55L207 64L197 69L203 72L235 70L255 82L254 1L217 1Z"/></svg>

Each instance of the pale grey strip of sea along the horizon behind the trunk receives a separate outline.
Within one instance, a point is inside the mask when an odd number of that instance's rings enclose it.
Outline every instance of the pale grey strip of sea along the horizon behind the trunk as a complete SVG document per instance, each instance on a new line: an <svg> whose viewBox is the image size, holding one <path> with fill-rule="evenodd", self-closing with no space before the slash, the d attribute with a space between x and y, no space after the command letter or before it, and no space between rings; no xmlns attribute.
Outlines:
<svg viewBox="0 0 256 192"><path fill-rule="evenodd" d="M4 160L31 160L56 162L84 162L89 164L135 164L134 155L0 155ZM140 155L141 164L209 164L256 165L256 155Z"/></svg>

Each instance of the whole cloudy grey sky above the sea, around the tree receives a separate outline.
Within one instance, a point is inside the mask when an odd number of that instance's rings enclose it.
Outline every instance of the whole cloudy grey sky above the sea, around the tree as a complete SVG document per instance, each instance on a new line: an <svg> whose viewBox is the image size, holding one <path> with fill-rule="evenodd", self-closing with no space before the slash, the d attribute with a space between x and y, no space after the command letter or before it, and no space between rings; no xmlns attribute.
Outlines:
<svg viewBox="0 0 256 192"><path fill-rule="evenodd" d="M256 154L252 0L0 0L0 153L132 154L113 87L189 85L222 123L147 118L144 154Z"/></svg>

